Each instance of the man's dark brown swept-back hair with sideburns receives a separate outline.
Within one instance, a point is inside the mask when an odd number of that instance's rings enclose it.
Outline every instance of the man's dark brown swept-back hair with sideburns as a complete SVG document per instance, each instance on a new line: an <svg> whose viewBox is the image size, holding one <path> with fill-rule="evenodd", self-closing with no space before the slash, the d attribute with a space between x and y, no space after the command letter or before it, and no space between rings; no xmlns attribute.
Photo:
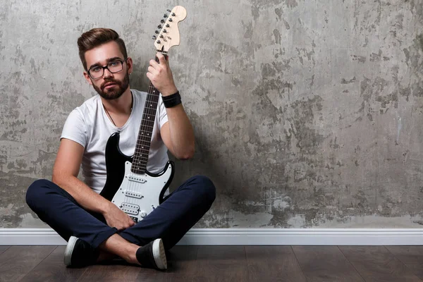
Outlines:
<svg viewBox="0 0 423 282"><path fill-rule="evenodd" d="M111 30L110 28L93 28L92 30L82 33L82 35L78 38L78 49L82 66L84 66L85 71L87 71L85 52L111 41L118 44L119 49L121 49L123 54L123 59L126 59L128 55L126 54L125 42L123 42L123 40L119 37L118 32Z"/></svg>

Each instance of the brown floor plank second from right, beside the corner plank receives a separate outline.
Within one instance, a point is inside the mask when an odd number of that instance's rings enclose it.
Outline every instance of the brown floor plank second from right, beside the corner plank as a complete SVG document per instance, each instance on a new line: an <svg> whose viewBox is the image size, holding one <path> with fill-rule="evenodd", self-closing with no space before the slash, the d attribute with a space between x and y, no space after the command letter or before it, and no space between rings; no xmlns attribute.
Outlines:
<svg viewBox="0 0 423 282"><path fill-rule="evenodd" d="M421 282L384 246L341 246L340 249L366 281Z"/></svg>

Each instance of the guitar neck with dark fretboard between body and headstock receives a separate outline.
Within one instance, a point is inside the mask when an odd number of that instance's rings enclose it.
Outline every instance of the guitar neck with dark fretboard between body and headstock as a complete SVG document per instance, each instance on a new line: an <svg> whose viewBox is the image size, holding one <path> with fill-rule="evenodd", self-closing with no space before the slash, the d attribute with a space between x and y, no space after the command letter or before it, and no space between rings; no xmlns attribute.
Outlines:
<svg viewBox="0 0 423 282"><path fill-rule="evenodd" d="M166 54L164 54L166 56ZM158 62L158 59L156 58ZM149 157L149 148L152 141L152 133L154 121L156 120L157 104L159 104L160 92L152 82L149 82L147 97L145 99L144 111L142 112L142 120L140 130L138 130L137 144L135 145L135 153L133 163L130 170L133 173L142 174L147 170L147 161Z"/></svg>

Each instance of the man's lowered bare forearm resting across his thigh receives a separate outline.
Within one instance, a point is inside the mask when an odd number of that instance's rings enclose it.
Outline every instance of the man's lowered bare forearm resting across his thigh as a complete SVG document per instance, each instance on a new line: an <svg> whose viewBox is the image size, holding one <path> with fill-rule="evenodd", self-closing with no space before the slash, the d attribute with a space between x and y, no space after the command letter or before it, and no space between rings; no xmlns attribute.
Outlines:
<svg viewBox="0 0 423 282"><path fill-rule="evenodd" d="M85 209L104 214L109 209L109 202L104 197L94 192L75 176L53 176L53 182L66 190Z"/></svg>

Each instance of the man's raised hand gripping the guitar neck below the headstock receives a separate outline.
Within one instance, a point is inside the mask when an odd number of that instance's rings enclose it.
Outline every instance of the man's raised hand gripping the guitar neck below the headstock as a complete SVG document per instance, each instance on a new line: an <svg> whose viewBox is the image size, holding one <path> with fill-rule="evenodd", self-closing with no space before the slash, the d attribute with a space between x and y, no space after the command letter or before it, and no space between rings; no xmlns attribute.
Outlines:
<svg viewBox="0 0 423 282"><path fill-rule="evenodd" d="M166 60L161 53L157 53L157 59L159 59L159 63L154 60L149 61L147 78L149 78L162 96L176 93L178 89L175 86L175 82L173 82L173 75L168 59Z"/></svg>

